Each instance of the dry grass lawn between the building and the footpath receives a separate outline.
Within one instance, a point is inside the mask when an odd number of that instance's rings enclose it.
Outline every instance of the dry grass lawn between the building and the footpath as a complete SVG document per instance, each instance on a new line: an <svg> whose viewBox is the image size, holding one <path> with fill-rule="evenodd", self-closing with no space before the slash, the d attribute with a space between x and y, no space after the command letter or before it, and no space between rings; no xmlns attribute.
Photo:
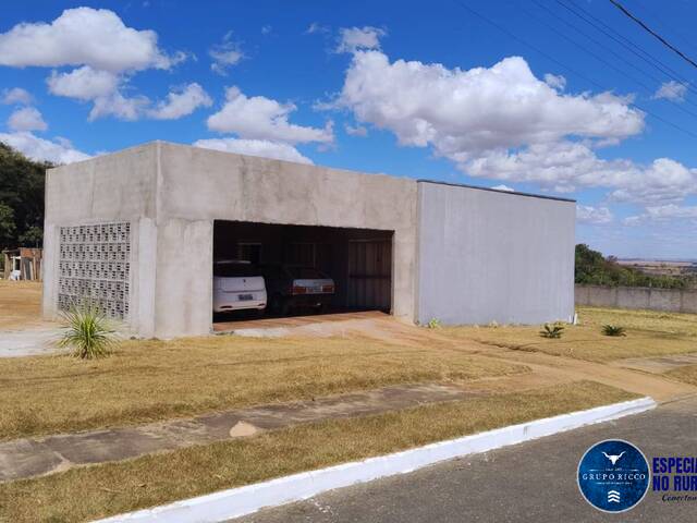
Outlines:
<svg viewBox="0 0 697 523"><path fill-rule="evenodd" d="M455 350L230 336L126 341L103 360L0 358L0 439L527 370Z"/></svg>

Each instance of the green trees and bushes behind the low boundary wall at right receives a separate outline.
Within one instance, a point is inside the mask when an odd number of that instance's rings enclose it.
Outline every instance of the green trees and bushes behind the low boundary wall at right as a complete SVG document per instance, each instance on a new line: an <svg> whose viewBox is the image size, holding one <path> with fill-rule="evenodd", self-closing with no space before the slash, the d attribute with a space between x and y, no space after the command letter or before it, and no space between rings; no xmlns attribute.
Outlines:
<svg viewBox="0 0 697 523"><path fill-rule="evenodd" d="M588 245L576 245L576 283L612 287L656 287L661 289L685 289L697 285L695 275L646 273L638 268L606 258L602 253Z"/></svg>

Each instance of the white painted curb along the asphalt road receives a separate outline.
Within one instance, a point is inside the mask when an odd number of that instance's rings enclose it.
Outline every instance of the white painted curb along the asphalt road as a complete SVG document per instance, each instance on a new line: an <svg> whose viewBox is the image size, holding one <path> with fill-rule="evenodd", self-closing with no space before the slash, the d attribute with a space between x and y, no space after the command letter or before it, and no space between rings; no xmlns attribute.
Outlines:
<svg viewBox="0 0 697 523"><path fill-rule="evenodd" d="M245 487L185 499L154 509L115 515L96 523L213 523L250 514L265 507L299 501L334 488L404 474L440 461L485 452L594 423L638 414L656 406L651 398L598 406L519 425L440 441L394 454L303 472Z"/></svg>

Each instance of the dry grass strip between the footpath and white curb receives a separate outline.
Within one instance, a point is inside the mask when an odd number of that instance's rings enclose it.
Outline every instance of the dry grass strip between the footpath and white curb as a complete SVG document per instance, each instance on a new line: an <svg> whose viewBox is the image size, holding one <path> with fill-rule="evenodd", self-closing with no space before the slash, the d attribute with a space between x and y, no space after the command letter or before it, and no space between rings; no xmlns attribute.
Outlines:
<svg viewBox="0 0 697 523"><path fill-rule="evenodd" d="M0 485L0 521L87 521L632 398L582 381L74 469Z"/></svg>

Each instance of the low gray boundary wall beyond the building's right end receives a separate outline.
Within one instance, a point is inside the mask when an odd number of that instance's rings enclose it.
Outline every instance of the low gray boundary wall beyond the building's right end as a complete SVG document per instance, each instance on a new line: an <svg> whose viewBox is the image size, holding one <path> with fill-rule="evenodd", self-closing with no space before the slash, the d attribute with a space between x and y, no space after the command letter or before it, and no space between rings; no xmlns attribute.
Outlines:
<svg viewBox="0 0 697 523"><path fill-rule="evenodd" d="M697 289L576 285L576 305L697 314Z"/></svg>

